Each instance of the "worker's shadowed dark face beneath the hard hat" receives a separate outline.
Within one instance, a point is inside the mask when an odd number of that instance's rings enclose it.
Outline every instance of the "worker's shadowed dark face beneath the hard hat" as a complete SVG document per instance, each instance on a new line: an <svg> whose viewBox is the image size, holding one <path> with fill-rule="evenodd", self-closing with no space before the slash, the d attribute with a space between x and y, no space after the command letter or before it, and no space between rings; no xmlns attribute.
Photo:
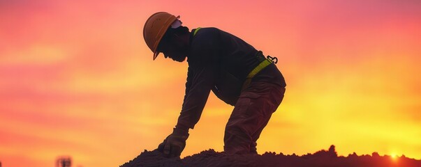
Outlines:
<svg viewBox="0 0 421 167"><path fill-rule="evenodd" d="M172 58L174 61L183 62L189 51L189 45L186 44L177 34L172 34L171 38L162 41L158 51L164 54L165 58Z"/></svg>

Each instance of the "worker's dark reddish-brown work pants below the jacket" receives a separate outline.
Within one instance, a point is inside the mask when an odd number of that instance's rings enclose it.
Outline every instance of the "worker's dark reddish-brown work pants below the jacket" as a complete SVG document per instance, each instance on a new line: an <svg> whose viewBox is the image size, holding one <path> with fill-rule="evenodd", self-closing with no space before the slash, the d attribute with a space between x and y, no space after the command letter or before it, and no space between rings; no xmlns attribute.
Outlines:
<svg viewBox="0 0 421 167"><path fill-rule="evenodd" d="M251 82L242 91L226 125L223 149L228 154L257 154L256 141L283 100L285 88Z"/></svg>

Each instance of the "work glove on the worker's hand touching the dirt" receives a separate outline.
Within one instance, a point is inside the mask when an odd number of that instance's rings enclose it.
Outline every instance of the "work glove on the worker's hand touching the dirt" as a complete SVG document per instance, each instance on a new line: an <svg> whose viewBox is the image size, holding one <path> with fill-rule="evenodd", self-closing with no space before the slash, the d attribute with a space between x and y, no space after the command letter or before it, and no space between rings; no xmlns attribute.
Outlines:
<svg viewBox="0 0 421 167"><path fill-rule="evenodd" d="M158 151L163 152L165 157L179 157L186 147L186 140L189 138L189 129L175 127L163 143L158 145Z"/></svg>

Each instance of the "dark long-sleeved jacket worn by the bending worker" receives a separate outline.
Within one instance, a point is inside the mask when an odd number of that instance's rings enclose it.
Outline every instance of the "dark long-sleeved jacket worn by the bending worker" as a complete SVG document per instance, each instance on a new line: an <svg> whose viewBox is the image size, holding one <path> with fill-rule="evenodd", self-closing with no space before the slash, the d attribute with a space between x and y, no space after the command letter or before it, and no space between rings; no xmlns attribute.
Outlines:
<svg viewBox="0 0 421 167"><path fill-rule="evenodd" d="M210 90L219 99L234 106L247 75L265 58L256 54L258 51L244 40L216 28L202 28L195 35L191 33L190 45L186 94L177 125L193 129ZM265 67L252 81L286 86L274 64Z"/></svg>

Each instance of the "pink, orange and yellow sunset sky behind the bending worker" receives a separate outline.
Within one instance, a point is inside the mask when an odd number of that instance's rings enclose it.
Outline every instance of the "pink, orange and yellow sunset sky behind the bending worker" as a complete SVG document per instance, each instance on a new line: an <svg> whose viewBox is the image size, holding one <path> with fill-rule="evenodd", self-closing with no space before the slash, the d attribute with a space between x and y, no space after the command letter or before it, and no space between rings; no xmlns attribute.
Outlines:
<svg viewBox="0 0 421 167"><path fill-rule="evenodd" d="M172 131L186 63L152 61L157 11L277 56L286 97L258 152L421 159L420 1L0 1L3 166L119 166ZM182 157L223 150L232 106L212 94Z"/></svg>

